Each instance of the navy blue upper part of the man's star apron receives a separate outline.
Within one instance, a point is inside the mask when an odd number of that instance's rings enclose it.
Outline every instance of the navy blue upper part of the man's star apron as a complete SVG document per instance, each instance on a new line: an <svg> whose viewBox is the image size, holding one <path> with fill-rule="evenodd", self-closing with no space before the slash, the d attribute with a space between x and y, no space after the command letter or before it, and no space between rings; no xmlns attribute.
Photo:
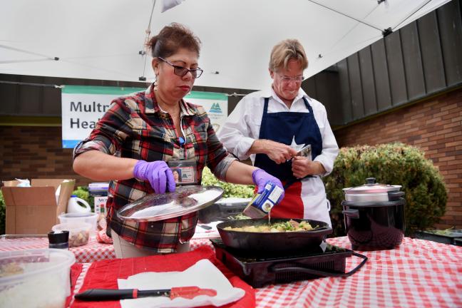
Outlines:
<svg viewBox="0 0 462 308"><path fill-rule="evenodd" d="M297 145L311 145L312 160L321 154L321 132L314 119L313 108L309 105L307 99L303 98L303 101L309 113L288 111L268 113L269 101L270 98L265 98L259 139L273 140L278 143L291 145L292 138L295 136L295 143ZM279 178L282 182L294 183L297 181L297 178L292 173L292 160L278 165L266 154L257 154L254 165L270 173L270 175Z"/></svg>

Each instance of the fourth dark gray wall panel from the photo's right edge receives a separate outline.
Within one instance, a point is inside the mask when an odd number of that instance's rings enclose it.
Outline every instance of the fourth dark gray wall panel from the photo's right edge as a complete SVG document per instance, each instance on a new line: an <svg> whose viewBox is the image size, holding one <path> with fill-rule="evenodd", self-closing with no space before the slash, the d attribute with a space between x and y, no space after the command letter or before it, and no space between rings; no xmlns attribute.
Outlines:
<svg viewBox="0 0 462 308"><path fill-rule="evenodd" d="M391 89L391 104L399 105L407 101L406 74L399 32L385 38L386 62L388 63Z"/></svg>

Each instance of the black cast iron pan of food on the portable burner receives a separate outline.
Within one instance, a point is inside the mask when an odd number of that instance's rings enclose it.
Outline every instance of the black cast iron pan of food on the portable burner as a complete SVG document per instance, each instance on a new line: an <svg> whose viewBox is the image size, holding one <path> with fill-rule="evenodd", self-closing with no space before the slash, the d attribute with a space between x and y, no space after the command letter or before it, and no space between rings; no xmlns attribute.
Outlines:
<svg viewBox="0 0 462 308"><path fill-rule="evenodd" d="M271 223L287 222L290 219L272 218ZM292 219L302 222L302 219ZM220 222L217 225L222 242L227 247L243 252L255 252L258 255L265 253L294 252L317 247L325 239L326 235L332 233L332 228L326 222L318 220L304 220L312 227L319 226L311 231L297 232L242 232L225 230L225 227L243 227L248 225L267 225L267 218L231 220Z"/></svg>

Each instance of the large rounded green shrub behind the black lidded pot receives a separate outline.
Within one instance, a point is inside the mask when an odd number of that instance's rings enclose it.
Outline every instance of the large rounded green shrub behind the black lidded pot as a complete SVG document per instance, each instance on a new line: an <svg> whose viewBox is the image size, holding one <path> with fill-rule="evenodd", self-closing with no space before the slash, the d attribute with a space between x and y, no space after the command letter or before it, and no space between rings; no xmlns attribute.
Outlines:
<svg viewBox="0 0 462 308"><path fill-rule="evenodd" d="M446 210L447 193L438 169L418 148L403 143L356 146L340 149L332 173L324 178L331 202L334 236L344 235L342 188L363 185L366 178L377 183L402 185L406 193L406 235L438 222Z"/></svg>

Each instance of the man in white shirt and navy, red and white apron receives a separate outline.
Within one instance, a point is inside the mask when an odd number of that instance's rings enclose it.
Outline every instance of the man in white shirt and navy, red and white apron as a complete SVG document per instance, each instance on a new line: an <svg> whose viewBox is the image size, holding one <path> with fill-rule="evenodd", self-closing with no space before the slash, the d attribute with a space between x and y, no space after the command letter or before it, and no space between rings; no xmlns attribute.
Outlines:
<svg viewBox="0 0 462 308"><path fill-rule="evenodd" d="M240 160L279 178L285 197L271 217L320 220L331 225L329 200L322 176L334 166L339 147L326 108L300 86L308 67L296 39L281 41L270 56L271 88L242 98L217 133ZM297 155L311 145L311 157Z"/></svg>

